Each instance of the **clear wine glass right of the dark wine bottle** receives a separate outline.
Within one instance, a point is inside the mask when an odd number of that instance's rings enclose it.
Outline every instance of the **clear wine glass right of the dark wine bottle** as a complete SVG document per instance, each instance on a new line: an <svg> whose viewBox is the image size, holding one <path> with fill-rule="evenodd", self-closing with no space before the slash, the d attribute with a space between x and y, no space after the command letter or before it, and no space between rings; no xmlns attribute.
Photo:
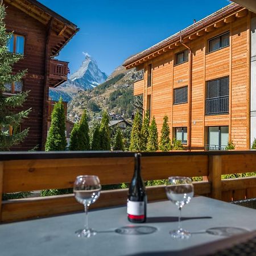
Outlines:
<svg viewBox="0 0 256 256"><path fill-rule="evenodd" d="M181 208L188 204L194 195L194 187L192 180L189 177L168 177L166 185L166 195L172 203L176 204L179 208L179 226L177 230L170 231L173 238L189 238L191 233L181 228Z"/></svg>

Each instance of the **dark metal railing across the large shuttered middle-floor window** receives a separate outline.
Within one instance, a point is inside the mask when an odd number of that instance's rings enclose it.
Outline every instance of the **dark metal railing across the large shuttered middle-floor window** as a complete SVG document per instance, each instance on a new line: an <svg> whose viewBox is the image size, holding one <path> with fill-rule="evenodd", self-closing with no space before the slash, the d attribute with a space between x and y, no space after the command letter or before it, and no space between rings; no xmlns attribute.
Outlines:
<svg viewBox="0 0 256 256"><path fill-rule="evenodd" d="M215 97L205 100L205 115L228 114L229 96Z"/></svg>

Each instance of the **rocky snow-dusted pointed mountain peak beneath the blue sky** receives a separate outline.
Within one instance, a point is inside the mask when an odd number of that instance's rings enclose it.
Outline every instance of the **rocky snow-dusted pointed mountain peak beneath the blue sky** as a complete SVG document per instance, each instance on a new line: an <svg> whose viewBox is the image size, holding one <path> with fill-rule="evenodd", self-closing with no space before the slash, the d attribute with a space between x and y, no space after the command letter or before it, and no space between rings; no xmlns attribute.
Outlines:
<svg viewBox="0 0 256 256"><path fill-rule="evenodd" d="M92 89L106 81L108 76L98 68L96 61L88 53L84 55L85 60L81 67L69 77L68 81L49 90L49 97L52 100L59 100L62 96L64 101L71 101L76 93Z"/></svg>

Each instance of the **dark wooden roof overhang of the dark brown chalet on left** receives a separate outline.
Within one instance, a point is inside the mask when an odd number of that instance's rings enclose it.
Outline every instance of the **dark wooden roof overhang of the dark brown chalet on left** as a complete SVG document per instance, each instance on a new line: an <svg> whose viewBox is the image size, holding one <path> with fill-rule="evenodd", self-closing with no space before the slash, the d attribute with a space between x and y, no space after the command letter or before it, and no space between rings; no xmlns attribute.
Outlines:
<svg viewBox="0 0 256 256"><path fill-rule="evenodd" d="M79 28L74 23L36 0L4 0L4 2L18 8L45 26L48 26L52 20L52 30L55 32L58 40L56 40L56 44L52 47L51 56L56 56L76 32L79 31Z"/></svg>

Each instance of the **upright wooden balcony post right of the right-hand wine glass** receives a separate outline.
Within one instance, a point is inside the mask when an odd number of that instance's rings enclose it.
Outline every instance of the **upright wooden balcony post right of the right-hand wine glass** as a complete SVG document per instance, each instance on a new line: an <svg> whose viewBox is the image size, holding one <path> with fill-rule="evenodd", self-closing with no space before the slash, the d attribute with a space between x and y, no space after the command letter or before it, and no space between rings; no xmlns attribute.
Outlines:
<svg viewBox="0 0 256 256"><path fill-rule="evenodd" d="M208 181L211 184L212 198L218 200L221 200L221 167L221 155L210 155Z"/></svg>

